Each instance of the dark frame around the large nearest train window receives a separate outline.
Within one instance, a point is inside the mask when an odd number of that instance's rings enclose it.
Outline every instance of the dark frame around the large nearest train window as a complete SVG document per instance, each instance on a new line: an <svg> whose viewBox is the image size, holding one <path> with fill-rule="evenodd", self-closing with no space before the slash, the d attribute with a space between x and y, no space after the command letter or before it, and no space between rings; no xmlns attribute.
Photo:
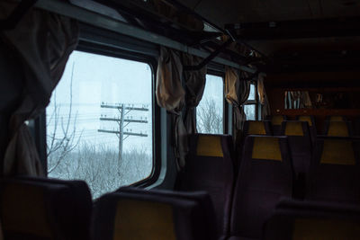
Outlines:
<svg viewBox="0 0 360 240"><path fill-rule="evenodd" d="M102 44L103 43L103 44ZM118 49L114 46L109 47L106 43L94 43L91 40L79 40L79 43L76 47L77 51L83 51L91 54L103 55L106 57L112 58L122 58L131 61L137 61L141 63L148 64L152 72L152 81L151 81L151 92L152 92L152 170L149 173L148 177L145 179L139 180L138 182L133 182L131 186L141 186L147 187L148 185L153 184L157 181L157 178L161 170L161 144L156 144L161 142L161 116L160 116L160 107L156 102L155 95L155 80L156 80L156 69L157 69L157 56L150 56L145 54L140 54L138 52L132 52L124 49ZM40 161L44 169L44 173L48 175L48 159L47 159L47 129L46 129L46 110L40 114L40 117L34 121L34 137L40 154ZM119 186L120 188L121 186Z"/></svg>

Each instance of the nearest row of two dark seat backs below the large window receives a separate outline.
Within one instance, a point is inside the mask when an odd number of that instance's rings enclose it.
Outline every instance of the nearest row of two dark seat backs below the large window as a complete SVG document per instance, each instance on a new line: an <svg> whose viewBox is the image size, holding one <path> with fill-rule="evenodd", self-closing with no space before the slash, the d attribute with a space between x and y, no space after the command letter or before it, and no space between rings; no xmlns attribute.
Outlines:
<svg viewBox="0 0 360 240"><path fill-rule="evenodd" d="M6 240L217 237L211 199L202 191L122 188L93 204L80 181L3 179L0 190L0 229Z"/></svg>

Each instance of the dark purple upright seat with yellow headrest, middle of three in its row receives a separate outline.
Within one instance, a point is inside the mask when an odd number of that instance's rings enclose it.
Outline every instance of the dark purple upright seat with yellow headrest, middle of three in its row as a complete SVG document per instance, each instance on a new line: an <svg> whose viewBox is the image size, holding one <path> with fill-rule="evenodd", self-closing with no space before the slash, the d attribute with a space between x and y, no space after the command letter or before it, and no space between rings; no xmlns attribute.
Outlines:
<svg viewBox="0 0 360 240"><path fill-rule="evenodd" d="M293 175L286 137L248 136L234 191L230 236L260 238L276 202L292 197Z"/></svg>

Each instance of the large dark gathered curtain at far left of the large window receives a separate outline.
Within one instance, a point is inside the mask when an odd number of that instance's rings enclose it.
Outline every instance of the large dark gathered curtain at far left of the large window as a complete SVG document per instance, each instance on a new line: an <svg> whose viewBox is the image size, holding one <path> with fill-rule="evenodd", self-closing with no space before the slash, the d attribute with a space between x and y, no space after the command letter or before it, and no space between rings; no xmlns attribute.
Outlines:
<svg viewBox="0 0 360 240"><path fill-rule="evenodd" d="M16 1L1 2L0 19L5 19L16 4ZM4 175L43 175L35 144L24 122L35 118L48 105L67 58L76 48L77 22L34 9L23 16L14 30L2 31L1 38L20 58L17 67L25 76L21 103L10 120Z"/></svg>

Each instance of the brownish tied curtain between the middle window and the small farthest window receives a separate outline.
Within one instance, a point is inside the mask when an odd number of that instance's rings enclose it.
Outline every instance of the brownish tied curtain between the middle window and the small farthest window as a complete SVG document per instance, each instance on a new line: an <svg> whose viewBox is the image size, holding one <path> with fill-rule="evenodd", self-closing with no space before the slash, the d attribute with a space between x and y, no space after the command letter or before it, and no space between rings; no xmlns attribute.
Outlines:
<svg viewBox="0 0 360 240"><path fill-rule="evenodd" d="M246 73L242 72L241 77L246 77ZM225 98L233 106L233 133L234 140L237 142L241 136L243 122L246 115L242 104L247 101L250 93L249 81L240 80L238 70L232 67L226 67L225 72Z"/></svg>

